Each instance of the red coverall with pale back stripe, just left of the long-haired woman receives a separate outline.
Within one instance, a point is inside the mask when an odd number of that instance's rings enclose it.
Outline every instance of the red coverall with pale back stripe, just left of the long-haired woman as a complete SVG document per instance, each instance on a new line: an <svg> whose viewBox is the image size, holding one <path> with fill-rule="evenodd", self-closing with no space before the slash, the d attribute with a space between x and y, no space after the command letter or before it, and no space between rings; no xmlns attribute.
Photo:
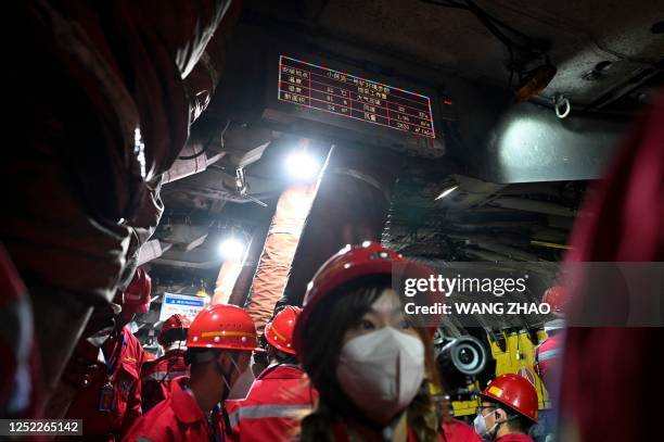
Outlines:
<svg viewBox="0 0 664 442"><path fill-rule="evenodd" d="M290 441L318 393L296 365L271 365L258 375L246 399L226 401L233 441Z"/></svg>

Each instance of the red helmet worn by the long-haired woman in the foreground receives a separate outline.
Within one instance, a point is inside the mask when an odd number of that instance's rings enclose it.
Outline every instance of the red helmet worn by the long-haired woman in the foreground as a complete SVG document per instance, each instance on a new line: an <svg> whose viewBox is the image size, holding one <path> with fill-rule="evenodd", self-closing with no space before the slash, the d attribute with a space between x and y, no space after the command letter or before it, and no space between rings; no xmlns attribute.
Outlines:
<svg viewBox="0 0 664 442"><path fill-rule="evenodd" d="M307 323L320 301L334 289L354 279L370 275L392 275L395 264L400 264L396 270L408 278L429 278L435 274L430 267L405 260L398 253L370 241L365 241L362 245L346 245L318 269L307 286L303 302L304 308L297 319L293 336L293 346L301 361ZM430 331L433 336L435 328L431 328Z"/></svg>

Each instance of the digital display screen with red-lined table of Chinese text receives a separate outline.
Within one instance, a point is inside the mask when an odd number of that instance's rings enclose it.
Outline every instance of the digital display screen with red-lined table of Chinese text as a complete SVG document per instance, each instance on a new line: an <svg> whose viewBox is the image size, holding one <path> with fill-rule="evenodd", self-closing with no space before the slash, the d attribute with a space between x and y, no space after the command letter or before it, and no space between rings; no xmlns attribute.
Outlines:
<svg viewBox="0 0 664 442"><path fill-rule="evenodd" d="M279 100L435 138L429 97L285 55L279 59Z"/></svg>

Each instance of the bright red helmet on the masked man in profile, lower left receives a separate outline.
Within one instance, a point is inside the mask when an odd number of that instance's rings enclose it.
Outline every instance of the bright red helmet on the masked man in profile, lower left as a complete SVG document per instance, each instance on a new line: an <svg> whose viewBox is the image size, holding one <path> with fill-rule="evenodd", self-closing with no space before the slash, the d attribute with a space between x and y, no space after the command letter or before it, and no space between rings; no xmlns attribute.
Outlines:
<svg viewBox="0 0 664 442"><path fill-rule="evenodd" d="M203 308L189 328L188 349L260 350L252 317L237 305Z"/></svg>

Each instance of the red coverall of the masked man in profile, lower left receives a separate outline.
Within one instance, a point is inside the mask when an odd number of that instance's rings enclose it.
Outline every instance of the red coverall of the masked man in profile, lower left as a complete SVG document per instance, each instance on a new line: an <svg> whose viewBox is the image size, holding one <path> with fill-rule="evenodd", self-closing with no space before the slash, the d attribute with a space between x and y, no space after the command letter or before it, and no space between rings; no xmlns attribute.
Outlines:
<svg viewBox="0 0 664 442"><path fill-rule="evenodd" d="M165 401L158 403L148 414L138 419L123 441L133 442L210 442L222 441L221 419L214 422L213 434L207 416L195 399L187 391L184 376L170 382L170 392ZM219 418L219 415L215 415Z"/></svg>

